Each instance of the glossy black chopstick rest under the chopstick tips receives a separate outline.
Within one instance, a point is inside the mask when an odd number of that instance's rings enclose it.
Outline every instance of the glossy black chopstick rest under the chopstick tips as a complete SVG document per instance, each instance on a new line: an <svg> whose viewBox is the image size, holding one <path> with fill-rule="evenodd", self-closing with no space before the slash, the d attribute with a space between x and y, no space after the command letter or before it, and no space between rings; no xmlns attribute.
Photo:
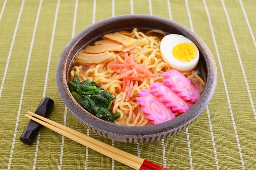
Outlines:
<svg viewBox="0 0 256 170"><path fill-rule="evenodd" d="M44 97L41 103L38 105L38 108L35 111L35 114L38 114L43 117L47 117L49 113L52 111L54 102L49 97ZM33 120L30 120L26 129L23 131L20 136L20 141L24 144L32 144L37 136L41 125Z"/></svg>

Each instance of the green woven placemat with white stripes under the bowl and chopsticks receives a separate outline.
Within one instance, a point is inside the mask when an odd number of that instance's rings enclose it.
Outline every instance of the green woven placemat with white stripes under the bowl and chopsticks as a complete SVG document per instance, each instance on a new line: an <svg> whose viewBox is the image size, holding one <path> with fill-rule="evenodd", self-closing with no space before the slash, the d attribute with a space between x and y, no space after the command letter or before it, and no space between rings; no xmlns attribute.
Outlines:
<svg viewBox="0 0 256 170"><path fill-rule="evenodd" d="M256 2L253 0L0 0L0 169L129 170L43 127L32 146L20 142L43 96L49 116L93 138L170 170L256 169ZM208 108L186 130L146 144L113 142L89 132L65 110L55 83L69 40L99 20L152 14L192 29L209 46L218 85Z"/></svg>

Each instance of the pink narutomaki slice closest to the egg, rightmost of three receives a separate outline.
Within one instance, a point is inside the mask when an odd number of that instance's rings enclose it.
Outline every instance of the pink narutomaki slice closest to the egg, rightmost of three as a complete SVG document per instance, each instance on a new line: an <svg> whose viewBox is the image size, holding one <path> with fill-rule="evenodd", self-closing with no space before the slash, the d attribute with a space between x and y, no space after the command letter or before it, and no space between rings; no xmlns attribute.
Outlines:
<svg viewBox="0 0 256 170"><path fill-rule="evenodd" d="M200 92L192 82L183 76L178 71L168 71L162 74L164 78L163 82L171 88L172 91L176 92L178 96L188 102L195 103L199 97Z"/></svg>

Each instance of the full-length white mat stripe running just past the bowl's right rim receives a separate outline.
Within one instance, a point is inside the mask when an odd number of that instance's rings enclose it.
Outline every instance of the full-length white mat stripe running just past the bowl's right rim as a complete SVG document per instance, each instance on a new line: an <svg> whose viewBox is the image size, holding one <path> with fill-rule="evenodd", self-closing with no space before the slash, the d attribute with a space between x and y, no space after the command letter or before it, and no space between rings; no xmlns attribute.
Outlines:
<svg viewBox="0 0 256 170"><path fill-rule="evenodd" d="M222 80L223 80L223 83L224 83L225 92L226 92L226 95L227 95L227 102L228 102L228 106L229 106L229 109L230 109L230 115L231 115L231 118L232 118L233 127L234 127L234 130L235 130L236 141L237 141L237 145L238 145L238 149L239 149L242 168L243 168L243 170L245 170L244 160L243 160L241 147L240 147L240 142L239 142L238 134L237 134L237 131L236 131L236 123L235 123L235 119L234 119L234 116L233 116L233 111L232 111L232 108L231 108L230 98L229 98L229 94L228 94L228 90L227 90L227 84L226 84L226 80L225 80L225 77L224 77L224 72L223 72L223 68L222 68L222 64L221 64L221 57L220 57L220 54L218 52L218 46L217 46L217 42L216 42L216 39L215 39L215 34L214 34L214 31L213 31L212 21L211 21L211 17L210 17L209 11L208 11L208 7L207 7L207 4L206 4L205 0L203 0L203 2L204 2L204 7L205 7L206 12L207 12L207 17L208 17L208 20L209 20L209 26L210 26L210 29L211 29L211 32L212 32L212 39L213 39L216 54L217 54L217 57L218 57L218 63L219 63L220 69L221 69L221 76L222 76Z"/></svg>

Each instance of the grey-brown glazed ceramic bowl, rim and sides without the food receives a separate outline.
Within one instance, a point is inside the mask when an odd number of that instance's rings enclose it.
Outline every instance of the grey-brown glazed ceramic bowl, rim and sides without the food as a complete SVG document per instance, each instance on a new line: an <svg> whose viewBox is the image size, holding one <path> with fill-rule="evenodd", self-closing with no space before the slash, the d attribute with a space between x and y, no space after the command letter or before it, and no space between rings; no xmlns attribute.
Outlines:
<svg viewBox="0 0 256 170"><path fill-rule="evenodd" d="M76 102L67 86L70 65L73 58L82 48L90 44L90 42L95 41L103 34L135 27L160 29L167 34L180 34L192 40L200 52L200 61L206 78L204 92L192 108L182 115L177 116L175 119L157 125L130 127L116 125L112 122L99 119L84 110L84 108ZM162 17L131 14L111 17L99 21L85 28L73 37L62 51L58 60L56 82L58 92L64 104L82 125L89 128L94 133L114 141L145 143L154 142L175 135L191 125L192 122L201 115L214 94L217 83L217 68L215 60L204 41L185 26Z"/></svg>

